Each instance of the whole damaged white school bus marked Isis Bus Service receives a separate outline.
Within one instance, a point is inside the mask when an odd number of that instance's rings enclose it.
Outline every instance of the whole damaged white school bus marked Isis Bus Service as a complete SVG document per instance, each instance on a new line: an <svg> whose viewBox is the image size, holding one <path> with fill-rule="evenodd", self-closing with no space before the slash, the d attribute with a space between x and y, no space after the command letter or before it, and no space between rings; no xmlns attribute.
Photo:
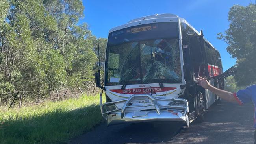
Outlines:
<svg viewBox="0 0 256 144"><path fill-rule="evenodd" d="M219 97L195 78L221 74L219 52L186 20L173 14L150 15L112 28L106 48L100 106L108 125L181 121L187 126ZM223 81L211 80L224 89Z"/></svg>

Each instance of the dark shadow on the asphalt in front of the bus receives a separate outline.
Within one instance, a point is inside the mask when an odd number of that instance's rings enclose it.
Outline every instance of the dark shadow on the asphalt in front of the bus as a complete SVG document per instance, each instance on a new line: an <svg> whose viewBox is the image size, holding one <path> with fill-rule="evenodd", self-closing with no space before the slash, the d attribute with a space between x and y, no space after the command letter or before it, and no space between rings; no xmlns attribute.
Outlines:
<svg viewBox="0 0 256 144"><path fill-rule="evenodd" d="M107 127L102 124L93 132L72 140L72 144L126 144L167 142L180 131L181 122L145 122Z"/></svg>

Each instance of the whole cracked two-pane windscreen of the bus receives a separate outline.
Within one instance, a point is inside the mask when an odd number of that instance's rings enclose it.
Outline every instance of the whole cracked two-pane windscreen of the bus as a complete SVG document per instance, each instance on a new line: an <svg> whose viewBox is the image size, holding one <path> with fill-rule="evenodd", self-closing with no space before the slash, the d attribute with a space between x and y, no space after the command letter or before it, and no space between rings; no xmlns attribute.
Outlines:
<svg viewBox="0 0 256 144"><path fill-rule="evenodd" d="M180 67L180 51L177 37L177 28L164 28L168 25L145 26L144 31L136 32L134 38L126 39L124 32L112 34L115 38L122 35L126 42L110 41L106 52L105 85L127 85L127 84L147 84L147 83L182 83ZM175 26L175 25L174 25ZM151 39L147 35L150 32ZM150 31L151 28L159 28L158 31ZM143 30L143 28L140 28ZM133 31L133 29L128 29ZM126 31L126 33L128 32ZM135 30L139 30L138 28ZM174 34L159 33L161 30L169 30ZM170 31L171 30L171 31ZM131 34L134 35L134 34ZM141 37L139 37L141 36ZM144 40L142 39L144 36ZM152 39L156 37L156 39ZM163 38L158 38L163 37ZM164 38L167 37L167 38ZM117 37L120 38L120 37ZM139 39L139 40L137 40ZM137 40L137 41L136 41ZM115 42L118 42L115 44Z"/></svg>

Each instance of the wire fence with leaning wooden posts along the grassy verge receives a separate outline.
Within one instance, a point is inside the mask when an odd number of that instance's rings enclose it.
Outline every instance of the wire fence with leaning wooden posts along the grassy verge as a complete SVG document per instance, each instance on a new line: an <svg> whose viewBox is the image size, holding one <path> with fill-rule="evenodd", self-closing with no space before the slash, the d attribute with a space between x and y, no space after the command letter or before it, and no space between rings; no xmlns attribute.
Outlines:
<svg viewBox="0 0 256 144"><path fill-rule="evenodd" d="M55 90L15 90L8 93L0 93L0 107L24 107L37 105L46 101L61 101L69 98L78 98L82 95L96 95L101 89L92 87L85 88L62 88Z"/></svg>

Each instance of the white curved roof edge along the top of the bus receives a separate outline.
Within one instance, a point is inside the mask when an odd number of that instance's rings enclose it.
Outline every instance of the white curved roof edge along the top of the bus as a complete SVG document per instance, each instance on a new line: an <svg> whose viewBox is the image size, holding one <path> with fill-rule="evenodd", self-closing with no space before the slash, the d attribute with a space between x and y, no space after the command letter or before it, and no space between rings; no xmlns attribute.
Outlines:
<svg viewBox="0 0 256 144"><path fill-rule="evenodd" d="M191 26L184 18L178 17L178 15L174 15L171 13L155 14L155 15L148 15L148 16L141 17L141 18L135 18L135 19L127 22L127 24L123 24L121 26L112 28L111 30L109 30L109 33L113 32L113 31L120 30L122 28L128 28L131 26L137 26L137 25L148 24L148 23L153 23L153 22L163 22L163 21L166 22L166 20L172 21L172 22L184 22L189 27L191 27L192 30L194 30L198 35L201 35L201 33L199 33L193 26ZM209 41L207 41L207 39L204 38L204 40L206 42L208 42L208 44L210 44L216 51L218 51Z"/></svg>

